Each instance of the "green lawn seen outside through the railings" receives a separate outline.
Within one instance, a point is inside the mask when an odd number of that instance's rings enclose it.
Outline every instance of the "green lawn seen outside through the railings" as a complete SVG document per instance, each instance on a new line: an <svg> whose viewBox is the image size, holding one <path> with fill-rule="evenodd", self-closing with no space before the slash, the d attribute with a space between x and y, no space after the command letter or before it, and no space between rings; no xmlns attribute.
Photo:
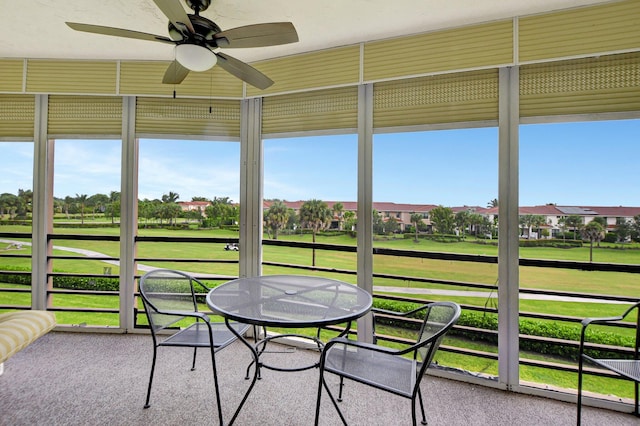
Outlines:
<svg viewBox="0 0 640 426"><path fill-rule="evenodd" d="M30 232L27 227L3 226L3 232ZM99 229L64 229L55 228L54 233L64 234L90 234L90 235L118 235L117 228ZM223 237L236 238L237 233L231 231L194 231L175 230L167 231L163 229L141 229L142 236L180 236L180 237ZM311 242L310 235L286 235L280 236L280 240ZM319 236L319 243L350 245L355 246L356 240L349 236ZM238 259L237 252L223 250L224 244L203 244L203 243L159 243L141 242L138 244L138 257L143 258L200 258L200 259ZM391 248L397 250L417 250L430 252L448 252L460 254L478 254L487 256L497 256L497 245L478 244L471 241L460 243L438 243L428 240L414 242L413 239L390 238L374 241L374 246ZM4 246L0 244L0 247ZM119 244L110 241L77 241L77 240L54 240L54 247L73 247L78 249L92 250L108 256L119 256ZM30 247L24 245L21 250L3 250L0 254L30 254ZM55 255L72 255L64 250L55 249ZM263 258L265 261L311 265L311 250L263 246ZM530 259L555 259L571 261L588 261L589 248L528 248L520 249L521 258ZM594 261L602 263L620 264L640 264L640 249L638 247L621 250L615 246L605 246L594 248ZM156 267L168 267L181 269L196 273L214 273L223 275L237 275L237 264L189 264L177 262L154 262ZM316 265L319 267L335 269L356 269L355 253L338 251L316 250ZM18 259L0 257L0 269L30 269L30 259ZM112 274L118 274L117 266L107 265L98 260L62 260L55 259L53 262L54 271L73 272L84 274L102 274L105 266L111 267ZM143 271L139 271L142 273ZM408 277L421 277L431 279L442 279L448 281L482 283L497 285L498 266L496 264L483 264L475 262L443 261L431 259L416 259L397 256L374 256L374 272ZM295 271L282 267L265 266L263 273L305 273L305 271ZM638 289L638 276L629 273L619 272L588 272L579 270L556 269L556 268L520 268L520 287L544 290L560 290L577 293L609 294L619 296L630 296L640 298ZM320 274L320 273L318 273ZM347 282L355 283L355 275L340 275L322 273L322 275L332 276ZM465 290L464 287L452 287L447 285L437 285L421 283L412 280L375 279L375 286L396 287L398 295L405 294L406 288L425 290ZM0 287L17 287L0 283ZM495 306L497 289L493 294L486 292L486 296L471 295L416 295L411 297L424 298L428 300L453 300L464 305L474 306ZM23 293L0 293L6 303L30 305L30 295ZM490 297L492 296L492 297ZM64 307L99 307L117 309L119 300L117 296L84 296L84 295L55 295L54 306ZM535 312L545 314L555 314L584 318L589 316L612 316L618 315L624 310L624 305L612 303L581 303L570 301L542 301L526 300L520 301L521 312ZM82 312L58 312L58 322L67 324L96 324L96 325L118 325L118 315L108 313L82 313ZM142 320L142 318L140 318ZM577 325L576 325L577 326ZM487 345L472 344L471 342L452 342L464 347L477 348L492 352L495 348ZM539 354L525 354L521 356L531 359L545 359ZM444 365L464 366L469 371L485 374L497 374L497 362L477 357L461 356L447 352L438 353L439 361ZM554 360L557 361L557 360ZM546 383L561 388L575 388L576 375L573 373L559 372L550 369L540 369L534 367L521 367L521 379L538 383ZM606 386L606 387L605 387ZM607 389L607 393L630 397L631 387L619 380L602 379L589 377L586 382L586 389L601 390Z"/></svg>

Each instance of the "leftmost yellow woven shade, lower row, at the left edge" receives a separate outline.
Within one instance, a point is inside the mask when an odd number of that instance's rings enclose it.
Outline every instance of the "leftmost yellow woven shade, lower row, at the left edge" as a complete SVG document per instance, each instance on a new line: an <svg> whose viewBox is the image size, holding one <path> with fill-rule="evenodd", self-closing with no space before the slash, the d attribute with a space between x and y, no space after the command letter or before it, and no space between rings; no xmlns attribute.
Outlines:
<svg viewBox="0 0 640 426"><path fill-rule="evenodd" d="M33 138L34 95L0 95L0 137Z"/></svg>

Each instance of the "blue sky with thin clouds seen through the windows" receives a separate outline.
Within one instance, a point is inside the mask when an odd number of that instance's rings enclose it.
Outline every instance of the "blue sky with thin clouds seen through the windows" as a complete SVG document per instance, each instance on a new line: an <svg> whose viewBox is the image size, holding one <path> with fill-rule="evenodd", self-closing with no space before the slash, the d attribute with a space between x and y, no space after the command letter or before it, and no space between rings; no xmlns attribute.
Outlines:
<svg viewBox="0 0 640 426"><path fill-rule="evenodd" d="M374 136L374 200L479 205L498 197L497 129ZM57 141L54 194L120 190L120 143ZM141 140L139 197L239 199L234 142ZM265 198L355 201L355 135L266 139ZM520 205L640 206L640 120L522 125ZM0 142L0 193L31 188L33 145Z"/></svg>

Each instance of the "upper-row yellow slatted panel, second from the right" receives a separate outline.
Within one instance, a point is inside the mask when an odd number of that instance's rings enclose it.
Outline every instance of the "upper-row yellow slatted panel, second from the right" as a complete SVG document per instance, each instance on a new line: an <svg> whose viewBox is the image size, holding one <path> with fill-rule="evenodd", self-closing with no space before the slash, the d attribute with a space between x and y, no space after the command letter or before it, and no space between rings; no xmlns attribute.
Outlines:
<svg viewBox="0 0 640 426"><path fill-rule="evenodd" d="M365 81L509 65L513 20L369 42L363 56Z"/></svg>

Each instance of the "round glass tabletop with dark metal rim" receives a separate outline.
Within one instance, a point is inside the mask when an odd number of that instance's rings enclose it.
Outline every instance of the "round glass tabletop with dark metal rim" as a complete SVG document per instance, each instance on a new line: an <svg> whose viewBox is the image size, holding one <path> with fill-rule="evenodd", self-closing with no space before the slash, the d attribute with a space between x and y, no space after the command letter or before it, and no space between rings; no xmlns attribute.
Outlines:
<svg viewBox="0 0 640 426"><path fill-rule="evenodd" d="M238 278L207 295L209 308L226 319L283 328L353 321L371 304L371 295L353 284L304 275Z"/></svg>

